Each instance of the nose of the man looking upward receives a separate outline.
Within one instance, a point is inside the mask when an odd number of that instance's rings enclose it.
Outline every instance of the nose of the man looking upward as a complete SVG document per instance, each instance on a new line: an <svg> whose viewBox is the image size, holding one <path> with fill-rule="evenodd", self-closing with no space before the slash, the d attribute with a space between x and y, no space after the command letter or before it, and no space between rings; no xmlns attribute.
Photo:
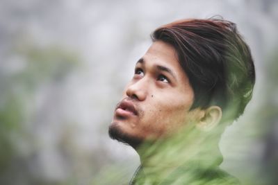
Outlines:
<svg viewBox="0 0 278 185"><path fill-rule="evenodd" d="M147 83L147 80L144 78L136 82L131 82L126 87L126 95L136 100L145 100L147 98Z"/></svg>

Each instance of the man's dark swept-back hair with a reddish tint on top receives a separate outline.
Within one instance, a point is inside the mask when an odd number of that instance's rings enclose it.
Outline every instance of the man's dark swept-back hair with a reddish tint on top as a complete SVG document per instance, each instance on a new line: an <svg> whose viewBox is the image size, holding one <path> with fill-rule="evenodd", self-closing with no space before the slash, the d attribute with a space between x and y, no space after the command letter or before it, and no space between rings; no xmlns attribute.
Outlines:
<svg viewBox="0 0 278 185"><path fill-rule="evenodd" d="M254 63L236 24L223 19L185 19L152 33L174 47L193 87L191 109L218 105L229 120L238 118L252 98Z"/></svg>

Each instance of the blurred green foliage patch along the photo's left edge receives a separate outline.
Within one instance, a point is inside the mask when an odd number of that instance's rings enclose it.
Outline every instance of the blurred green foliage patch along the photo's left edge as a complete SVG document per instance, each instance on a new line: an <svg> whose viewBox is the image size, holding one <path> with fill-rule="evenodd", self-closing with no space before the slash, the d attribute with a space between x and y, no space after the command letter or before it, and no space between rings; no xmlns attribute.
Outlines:
<svg viewBox="0 0 278 185"><path fill-rule="evenodd" d="M18 62L23 67L14 73L0 74L0 184L16 184L22 176L26 181L23 184L32 184L27 167L34 146L27 155L19 148L22 143L32 146L35 142L28 129L34 126L35 112L30 107L35 106L35 93L49 83L63 82L78 66L79 58L60 46L33 44L21 44L10 55L19 60L8 62Z"/></svg>

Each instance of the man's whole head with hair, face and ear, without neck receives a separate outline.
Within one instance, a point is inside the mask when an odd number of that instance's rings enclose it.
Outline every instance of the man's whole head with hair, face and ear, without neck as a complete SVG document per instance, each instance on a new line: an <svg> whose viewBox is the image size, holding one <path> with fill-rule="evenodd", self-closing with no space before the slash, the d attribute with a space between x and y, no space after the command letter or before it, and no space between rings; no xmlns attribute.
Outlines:
<svg viewBox="0 0 278 185"><path fill-rule="evenodd" d="M152 41L115 109L109 127L113 139L136 147L182 127L213 130L243 114L255 73L235 24L175 21L157 28Z"/></svg>

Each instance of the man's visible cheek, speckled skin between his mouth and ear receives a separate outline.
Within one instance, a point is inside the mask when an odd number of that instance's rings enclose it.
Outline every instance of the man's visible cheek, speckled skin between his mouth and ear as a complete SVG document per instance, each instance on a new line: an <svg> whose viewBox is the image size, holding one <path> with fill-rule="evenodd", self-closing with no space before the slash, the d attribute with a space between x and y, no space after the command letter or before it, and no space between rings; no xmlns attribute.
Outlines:
<svg viewBox="0 0 278 185"><path fill-rule="evenodd" d="M143 137L158 137L186 122L186 115L193 100L181 93L174 92L174 96L171 96L172 94L152 94L143 104L144 116L140 118L136 128L138 134Z"/></svg>

